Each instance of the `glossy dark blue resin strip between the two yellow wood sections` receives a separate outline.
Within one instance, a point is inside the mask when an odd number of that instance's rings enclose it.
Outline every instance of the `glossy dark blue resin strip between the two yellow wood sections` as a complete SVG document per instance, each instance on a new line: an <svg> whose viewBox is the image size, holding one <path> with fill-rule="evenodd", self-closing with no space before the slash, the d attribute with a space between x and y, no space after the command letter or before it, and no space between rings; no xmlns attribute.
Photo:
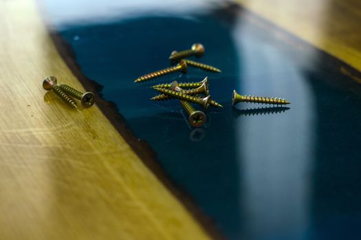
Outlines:
<svg viewBox="0 0 361 240"><path fill-rule="evenodd" d="M85 76L104 86L104 98L116 103L134 134L157 152L174 184L228 239L361 239L360 88L336 66L323 63L325 56L309 62L306 51L265 29L250 23L236 28L212 13L69 25L58 33L71 45ZM168 67L171 51L193 43L206 47L199 61L221 74L189 68L186 75L133 83ZM156 94L152 84L206 76L212 97L224 108L208 110L204 128L190 128L176 100L149 100ZM239 115L230 106L233 89L277 94L292 101L291 109ZM278 123L281 128L275 127ZM274 179L286 177L272 182L273 171ZM305 198L300 203L293 198L298 193Z"/></svg>

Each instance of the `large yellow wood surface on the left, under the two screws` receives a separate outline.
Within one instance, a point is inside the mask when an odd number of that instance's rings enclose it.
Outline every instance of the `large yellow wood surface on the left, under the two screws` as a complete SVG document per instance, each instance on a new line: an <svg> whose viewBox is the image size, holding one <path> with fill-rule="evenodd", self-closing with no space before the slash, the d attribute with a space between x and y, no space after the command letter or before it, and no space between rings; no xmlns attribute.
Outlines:
<svg viewBox="0 0 361 240"><path fill-rule="evenodd" d="M34 0L0 1L0 239L208 239L94 106L43 90L83 89Z"/></svg>

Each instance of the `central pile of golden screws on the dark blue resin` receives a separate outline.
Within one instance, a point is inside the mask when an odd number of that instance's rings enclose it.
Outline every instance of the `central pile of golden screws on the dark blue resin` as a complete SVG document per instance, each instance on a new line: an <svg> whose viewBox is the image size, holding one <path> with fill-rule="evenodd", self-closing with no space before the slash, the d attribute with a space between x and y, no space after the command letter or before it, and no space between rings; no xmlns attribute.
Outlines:
<svg viewBox="0 0 361 240"><path fill-rule="evenodd" d="M200 43L195 43L189 50L179 52L173 51L169 59L172 64L176 64L175 66L155 71L153 73L148 73L142 77L138 77L138 79L134 82L144 82L146 80L151 80L155 77L160 77L176 71L186 73L188 66L213 73L221 73L221 70L208 64L185 59L189 56L197 56L199 58L203 56L203 54L204 47ZM223 106L217 103L217 101L212 100L209 95L208 77L204 78L201 82L178 83L177 81L173 81L170 84L155 85L153 88L162 94L152 97L151 100L163 101L166 99L179 99L179 104L188 114L189 123L190 125L193 125L193 127L200 127L201 125L204 125L204 123L206 123L206 114L201 110L195 110L190 103L199 104L205 109L209 106L223 108Z"/></svg>

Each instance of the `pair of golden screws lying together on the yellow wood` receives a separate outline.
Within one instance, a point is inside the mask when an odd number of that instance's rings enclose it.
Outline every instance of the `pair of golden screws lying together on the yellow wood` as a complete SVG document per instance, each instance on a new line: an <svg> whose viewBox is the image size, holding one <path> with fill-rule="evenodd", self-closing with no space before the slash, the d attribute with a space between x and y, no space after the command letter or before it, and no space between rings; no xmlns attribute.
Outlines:
<svg viewBox="0 0 361 240"><path fill-rule="evenodd" d="M57 84L58 80L56 77L50 76L43 80L43 88L46 91L53 91L58 97L60 97L65 104L71 108L77 108L76 101L73 99L80 100L83 108L90 108L94 104L94 94L91 92L82 93L75 88L67 84Z"/></svg>

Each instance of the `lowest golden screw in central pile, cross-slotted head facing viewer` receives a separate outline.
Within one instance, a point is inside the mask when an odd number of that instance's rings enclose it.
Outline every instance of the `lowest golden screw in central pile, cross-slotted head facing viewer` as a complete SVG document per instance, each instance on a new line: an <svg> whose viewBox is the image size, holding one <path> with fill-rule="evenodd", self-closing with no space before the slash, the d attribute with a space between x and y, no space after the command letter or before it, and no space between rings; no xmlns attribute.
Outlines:
<svg viewBox="0 0 361 240"><path fill-rule="evenodd" d="M171 90L182 93L186 92L182 88L179 88L177 81L172 82ZM179 103L182 106L183 110L187 112L190 125L192 125L193 127L200 127L201 125L204 125L204 123L206 123L207 117L204 112L195 110L195 108L193 108L193 106L188 103L188 101L179 100Z"/></svg>

